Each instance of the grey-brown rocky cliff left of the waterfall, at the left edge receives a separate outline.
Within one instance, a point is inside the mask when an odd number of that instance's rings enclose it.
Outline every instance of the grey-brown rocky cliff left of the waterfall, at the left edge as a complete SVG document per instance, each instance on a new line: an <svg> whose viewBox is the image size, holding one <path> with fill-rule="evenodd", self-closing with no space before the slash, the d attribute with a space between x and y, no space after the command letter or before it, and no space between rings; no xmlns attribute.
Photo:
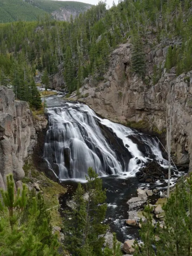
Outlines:
<svg viewBox="0 0 192 256"><path fill-rule="evenodd" d="M14 180L24 176L24 160L36 145L36 132L46 127L45 118L34 124L25 101L16 101L11 89L0 87L0 187L5 188L6 176Z"/></svg>

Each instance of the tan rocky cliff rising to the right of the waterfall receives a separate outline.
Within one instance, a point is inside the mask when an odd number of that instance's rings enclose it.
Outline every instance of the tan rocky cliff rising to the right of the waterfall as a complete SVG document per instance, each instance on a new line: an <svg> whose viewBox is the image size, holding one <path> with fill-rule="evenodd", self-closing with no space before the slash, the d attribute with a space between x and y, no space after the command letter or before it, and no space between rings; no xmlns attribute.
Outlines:
<svg viewBox="0 0 192 256"><path fill-rule="evenodd" d="M156 48L145 46L148 76L152 77L153 65L165 63L170 42ZM117 47L110 57L105 81L96 86L92 78L85 78L80 90L81 101L89 104L98 114L135 128L145 126L149 133L162 134L172 121L172 153L177 164L189 164L192 170L192 71L175 75L174 68L167 73L162 69L158 83L144 83L136 75L130 75L132 44ZM75 93L72 95L77 99ZM165 135L164 135L165 138Z"/></svg>

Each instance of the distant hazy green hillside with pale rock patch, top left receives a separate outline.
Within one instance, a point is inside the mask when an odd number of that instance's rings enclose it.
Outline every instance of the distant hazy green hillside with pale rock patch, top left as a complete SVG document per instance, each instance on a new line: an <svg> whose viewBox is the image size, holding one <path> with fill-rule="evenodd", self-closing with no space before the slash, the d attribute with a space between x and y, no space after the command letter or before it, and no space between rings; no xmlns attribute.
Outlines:
<svg viewBox="0 0 192 256"><path fill-rule="evenodd" d="M91 5L82 2L51 0L0 0L0 23L17 20L35 21L52 15L57 20L69 20L85 12Z"/></svg>

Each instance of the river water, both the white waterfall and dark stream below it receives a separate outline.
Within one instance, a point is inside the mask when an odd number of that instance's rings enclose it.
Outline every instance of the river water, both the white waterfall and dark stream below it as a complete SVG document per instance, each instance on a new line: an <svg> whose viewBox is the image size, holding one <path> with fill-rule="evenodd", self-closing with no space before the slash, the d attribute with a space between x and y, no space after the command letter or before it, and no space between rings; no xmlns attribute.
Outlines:
<svg viewBox="0 0 192 256"><path fill-rule="evenodd" d="M121 124L102 119L87 105L66 102L63 94L46 98L49 128L44 159L68 192L60 198L62 208L72 197L77 182L84 184L88 167L93 167L107 190L106 222L119 241L138 237L137 227L128 227L127 201L136 197L141 184L135 173L146 162L156 159L167 168L158 140ZM172 183L174 179L172 180ZM85 186L85 184L84 184ZM161 186L160 181L151 188ZM151 189L150 188L150 189ZM149 197L153 201L157 196ZM138 208L136 210L139 210Z"/></svg>

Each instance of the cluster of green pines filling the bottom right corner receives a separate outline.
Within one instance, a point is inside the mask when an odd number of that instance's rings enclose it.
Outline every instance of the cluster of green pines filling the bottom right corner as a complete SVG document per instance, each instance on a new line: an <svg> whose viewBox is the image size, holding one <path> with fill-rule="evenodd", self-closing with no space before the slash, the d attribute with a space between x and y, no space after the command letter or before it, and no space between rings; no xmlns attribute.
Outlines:
<svg viewBox="0 0 192 256"><path fill-rule="evenodd" d="M158 202L159 204L160 202ZM192 254L192 174L187 180L180 180L166 203L163 203L164 226L152 224L150 206L146 206L143 216L146 222L141 225L140 236L143 245L135 242L134 256L191 256ZM158 239L155 239L158 238ZM152 245L155 245L156 252Z"/></svg>

